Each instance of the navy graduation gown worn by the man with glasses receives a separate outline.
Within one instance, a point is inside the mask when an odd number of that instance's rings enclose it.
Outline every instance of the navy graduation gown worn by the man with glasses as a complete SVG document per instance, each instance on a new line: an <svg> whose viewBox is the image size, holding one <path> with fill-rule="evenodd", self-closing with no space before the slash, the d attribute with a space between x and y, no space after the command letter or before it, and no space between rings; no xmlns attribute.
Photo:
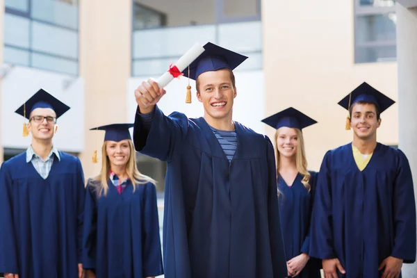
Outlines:
<svg viewBox="0 0 417 278"><path fill-rule="evenodd" d="M47 179L26 152L1 165L0 272L74 278L81 263L84 178L79 158L59 152Z"/></svg>

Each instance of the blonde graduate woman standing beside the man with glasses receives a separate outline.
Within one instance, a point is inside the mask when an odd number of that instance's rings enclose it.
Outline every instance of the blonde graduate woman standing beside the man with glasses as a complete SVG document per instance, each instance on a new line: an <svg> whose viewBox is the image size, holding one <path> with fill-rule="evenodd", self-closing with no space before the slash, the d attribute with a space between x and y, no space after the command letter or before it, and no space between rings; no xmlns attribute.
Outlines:
<svg viewBox="0 0 417 278"><path fill-rule="evenodd" d="M104 130L101 172L86 188L83 267L88 277L163 274L155 181L140 174L129 128Z"/></svg>

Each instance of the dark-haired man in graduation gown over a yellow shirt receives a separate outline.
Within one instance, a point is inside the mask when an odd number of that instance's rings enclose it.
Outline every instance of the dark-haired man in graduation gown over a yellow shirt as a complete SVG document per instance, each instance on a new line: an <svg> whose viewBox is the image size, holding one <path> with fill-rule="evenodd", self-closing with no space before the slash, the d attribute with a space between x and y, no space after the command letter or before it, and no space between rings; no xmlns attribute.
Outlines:
<svg viewBox="0 0 417 278"><path fill-rule="evenodd" d="M406 156L377 142L380 114L394 101L362 83L339 104L353 142L323 159L310 256L322 259L325 277L400 277L416 259L416 204Z"/></svg>

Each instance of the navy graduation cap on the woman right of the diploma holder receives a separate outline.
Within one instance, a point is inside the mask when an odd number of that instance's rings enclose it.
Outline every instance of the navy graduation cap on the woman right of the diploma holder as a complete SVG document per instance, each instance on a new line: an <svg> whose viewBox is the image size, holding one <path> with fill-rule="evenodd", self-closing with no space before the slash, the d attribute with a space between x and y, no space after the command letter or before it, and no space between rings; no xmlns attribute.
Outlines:
<svg viewBox="0 0 417 278"><path fill-rule="evenodd" d="M286 126L300 130L317 123L316 120L311 119L311 117L301 113L293 107L286 108L281 112L267 117L263 119L262 122L272 126L274 129Z"/></svg>

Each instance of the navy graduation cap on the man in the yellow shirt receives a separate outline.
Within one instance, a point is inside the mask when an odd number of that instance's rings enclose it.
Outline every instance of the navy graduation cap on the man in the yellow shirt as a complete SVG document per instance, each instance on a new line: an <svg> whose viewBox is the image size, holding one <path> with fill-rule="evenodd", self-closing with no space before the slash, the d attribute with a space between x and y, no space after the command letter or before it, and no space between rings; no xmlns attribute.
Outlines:
<svg viewBox="0 0 417 278"><path fill-rule="evenodd" d="M361 83L361 85L350 92L349 95L339 101L338 104L345 108L347 111L350 111L350 107L360 101L375 104L379 113L386 111L387 108L395 104L395 101L382 94L382 92L379 92L377 89L373 88L366 82ZM346 130L350 129L350 113L347 114L345 128Z"/></svg>

